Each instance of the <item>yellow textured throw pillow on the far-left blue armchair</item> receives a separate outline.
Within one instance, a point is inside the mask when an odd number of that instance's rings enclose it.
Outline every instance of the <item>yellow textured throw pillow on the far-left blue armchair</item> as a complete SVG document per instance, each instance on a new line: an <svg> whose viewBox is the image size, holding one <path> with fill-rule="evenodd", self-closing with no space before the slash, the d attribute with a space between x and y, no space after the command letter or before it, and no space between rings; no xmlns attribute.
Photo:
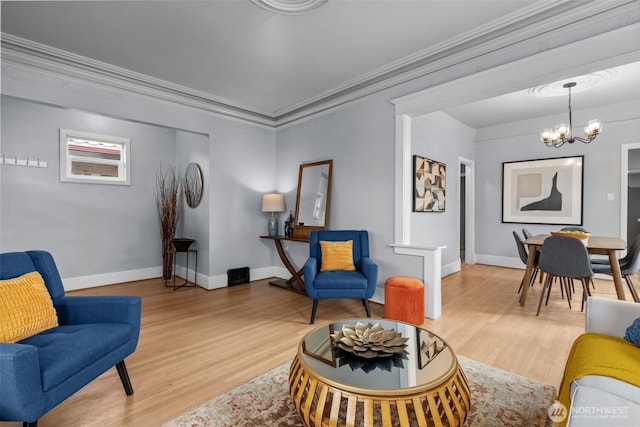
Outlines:
<svg viewBox="0 0 640 427"><path fill-rule="evenodd" d="M37 271L0 280L0 342L17 342L58 326L58 315Z"/></svg>

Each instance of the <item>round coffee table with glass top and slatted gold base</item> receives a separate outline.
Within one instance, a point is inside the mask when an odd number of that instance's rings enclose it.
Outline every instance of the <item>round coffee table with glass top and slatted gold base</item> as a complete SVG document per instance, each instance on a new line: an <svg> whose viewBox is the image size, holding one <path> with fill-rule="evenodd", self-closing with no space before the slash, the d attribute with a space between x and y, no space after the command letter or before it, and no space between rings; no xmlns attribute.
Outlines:
<svg viewBox="0 0 640 427"><path fill-rule="evenodd" d="M408 338L402 352L360 357L331 336L343 325L377 323ZM404 322L349 319L302 338L289 392L306 426L460 426L471 392L455 353L435 334Z"/></svg>

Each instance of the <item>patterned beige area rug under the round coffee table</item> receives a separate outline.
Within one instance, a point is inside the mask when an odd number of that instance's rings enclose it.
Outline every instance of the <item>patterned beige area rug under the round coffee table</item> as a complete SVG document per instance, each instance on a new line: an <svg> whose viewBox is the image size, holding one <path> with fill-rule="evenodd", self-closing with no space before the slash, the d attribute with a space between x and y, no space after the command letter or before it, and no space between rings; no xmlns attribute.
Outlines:
<svg viewBox="0 0 640 427"><path fill-rule="evenodd" d="M458 356L471 389L468 427L544 427L553 386ZM300 427L285 363L218 396L163 427Z"/></svg>

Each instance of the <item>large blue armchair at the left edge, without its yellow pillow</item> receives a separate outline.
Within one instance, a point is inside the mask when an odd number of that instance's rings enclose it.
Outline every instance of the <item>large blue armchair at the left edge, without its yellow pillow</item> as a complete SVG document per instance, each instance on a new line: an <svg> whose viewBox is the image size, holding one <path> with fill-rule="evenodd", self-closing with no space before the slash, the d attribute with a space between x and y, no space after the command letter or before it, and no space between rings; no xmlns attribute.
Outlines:
<svg viewBox="0 0 640 427"><path fill-rule="evenodd" d="M0 343L0 420L36 426L42 415L113 366L126 394L133 394L124 358L138 344L141 298L65 296L50 253L0 254L1 280L32 271L44 279L59 326Z"/></svg>

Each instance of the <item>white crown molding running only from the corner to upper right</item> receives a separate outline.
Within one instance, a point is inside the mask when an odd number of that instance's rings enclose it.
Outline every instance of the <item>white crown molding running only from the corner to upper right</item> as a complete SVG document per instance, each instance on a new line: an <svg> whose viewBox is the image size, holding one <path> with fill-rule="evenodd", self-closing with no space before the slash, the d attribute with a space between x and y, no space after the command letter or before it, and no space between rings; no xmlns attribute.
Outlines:
<svg viewBox="0 0 640 427"><path fill-rule="evenodd" d="M623 2L545 1L503 17L455 40L374 70L343 86L276 113L276 126L305 119L342 104L417 79L430 86L455 81L490 68L581 40L601 21L602 32L638 22L637 0ZM578 36L572 35L575 32ZM587 33L588 34L588 33ZM464 68L466 66L466 68Z"/></svg>

